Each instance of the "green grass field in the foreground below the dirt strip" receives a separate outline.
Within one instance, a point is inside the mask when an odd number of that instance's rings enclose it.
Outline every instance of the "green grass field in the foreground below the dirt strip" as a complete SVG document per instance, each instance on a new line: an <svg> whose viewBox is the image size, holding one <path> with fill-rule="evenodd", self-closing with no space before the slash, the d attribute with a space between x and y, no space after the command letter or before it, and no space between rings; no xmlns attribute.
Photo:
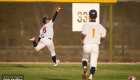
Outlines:
<svg viewBox="0 0 140 80"><path fill-rule="evenodd" d="M24 75L24 80L82 80L81 64L0 64L2 75ZM94 80L140 80L140 64L98 64Z"/></svg>

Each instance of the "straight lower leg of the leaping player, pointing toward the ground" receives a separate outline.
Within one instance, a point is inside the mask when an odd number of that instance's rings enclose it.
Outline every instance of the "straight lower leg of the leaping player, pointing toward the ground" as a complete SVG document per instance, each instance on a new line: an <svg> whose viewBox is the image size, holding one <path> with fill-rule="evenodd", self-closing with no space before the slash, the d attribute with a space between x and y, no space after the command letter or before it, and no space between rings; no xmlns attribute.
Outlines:
<svg viewBox="0 0 140 80"><path fill-rule="evenodd" d="M48 49L51 53L52 61L54 62L54 66L57 66L60 61L56 59L56 53L55 53L55 47L54 47L53 41L48 38L45 38L45 39L43 39L43 42L46 44L46 46L48 47Z"/></svg>

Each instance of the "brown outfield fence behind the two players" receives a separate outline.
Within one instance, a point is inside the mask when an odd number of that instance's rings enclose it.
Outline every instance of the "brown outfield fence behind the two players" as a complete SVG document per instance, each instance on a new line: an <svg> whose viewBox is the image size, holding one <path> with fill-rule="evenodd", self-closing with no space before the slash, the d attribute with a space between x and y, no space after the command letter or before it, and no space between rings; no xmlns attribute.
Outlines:
<svg viewBox="0 0 140 80"><path fill-rule="evenodd" d="M54 44L62 62L80 62L81 32L72 31L72 3L0 3L0 62L51 62L47 48L36 52L29 37L38 38L44 16L52 17L55 7L64 9L54 23ZM112 37L110 38L110 5ZM100 23L107 39L100 44L99 62L140 62L140 2L100 4ZM110 53L112 39L112 53ZM112 54L112 56L110 56Z"/></svg>

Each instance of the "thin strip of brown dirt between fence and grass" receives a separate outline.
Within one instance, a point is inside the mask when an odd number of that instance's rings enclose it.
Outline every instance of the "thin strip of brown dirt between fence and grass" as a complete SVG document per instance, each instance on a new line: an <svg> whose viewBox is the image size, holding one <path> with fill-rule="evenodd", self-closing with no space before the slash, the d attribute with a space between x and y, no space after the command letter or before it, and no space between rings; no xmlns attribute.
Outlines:
<svg viewBox="0 0 140 80"><path fill-rule="evenodd" d="M0 62L0 64L53 64L53 62ZM81 64L81 62L60 62L60 64ZM98 62L98 64L140 64L140 62L132 62L132 63Z"/></svg>

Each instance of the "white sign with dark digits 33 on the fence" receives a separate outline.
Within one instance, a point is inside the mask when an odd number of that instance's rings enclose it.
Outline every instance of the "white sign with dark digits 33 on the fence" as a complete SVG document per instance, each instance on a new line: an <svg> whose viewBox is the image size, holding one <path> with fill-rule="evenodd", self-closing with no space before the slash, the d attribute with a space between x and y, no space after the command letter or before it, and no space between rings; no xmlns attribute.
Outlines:
<svg viewBox="0 0 140 80"><path fill-rule="evenodd" d="M82 31L83 24L89 22L89 11L97 11L96 22L99 23L99 3L73 3L72 4L72 31Z"/></svg>

